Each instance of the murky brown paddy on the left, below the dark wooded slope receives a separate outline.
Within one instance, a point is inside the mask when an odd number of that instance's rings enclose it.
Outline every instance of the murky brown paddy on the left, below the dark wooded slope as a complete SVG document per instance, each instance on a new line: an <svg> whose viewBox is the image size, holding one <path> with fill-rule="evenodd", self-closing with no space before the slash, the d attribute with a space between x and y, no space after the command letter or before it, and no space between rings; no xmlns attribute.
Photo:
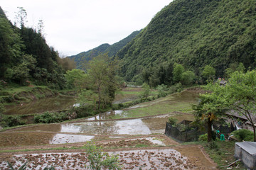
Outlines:
<svg viewBox="0 0 256 170"><path fill-rule="evenodd" d="M18 106L6 106L6 115L27 115L43 113L45 111L58 111L73 106L75 98L70 96L53 96L41 98L30 103L22 103Z"/></svg>

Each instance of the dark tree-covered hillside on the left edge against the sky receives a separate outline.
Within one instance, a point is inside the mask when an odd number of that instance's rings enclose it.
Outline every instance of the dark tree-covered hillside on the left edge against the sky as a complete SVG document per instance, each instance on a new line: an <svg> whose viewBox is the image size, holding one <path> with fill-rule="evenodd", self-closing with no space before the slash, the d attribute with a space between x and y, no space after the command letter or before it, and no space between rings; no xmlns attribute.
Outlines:
<svg viewBox="0 0 256 170"><path fill-rule="evenodd" d="M1 82L28 85L33 81L53 89L65 88L65 70L58 64L58 52L46 44L40 30L26 28L26 10L20 9L19 26L14 26L0 7Z"/></svg>

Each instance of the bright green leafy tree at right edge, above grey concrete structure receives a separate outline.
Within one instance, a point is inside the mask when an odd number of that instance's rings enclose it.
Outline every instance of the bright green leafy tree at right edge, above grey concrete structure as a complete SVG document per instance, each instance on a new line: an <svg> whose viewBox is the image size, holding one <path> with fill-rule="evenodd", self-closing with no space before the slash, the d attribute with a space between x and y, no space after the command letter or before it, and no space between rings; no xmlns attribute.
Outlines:
<svg viewBox="0 0 256 170"><path fill-rule="evenodd" d="M256 142L256 70L246 73L234 72L223 87L223 98L228 101L228 108L244 115L252 124L254 141Z"/></svg>

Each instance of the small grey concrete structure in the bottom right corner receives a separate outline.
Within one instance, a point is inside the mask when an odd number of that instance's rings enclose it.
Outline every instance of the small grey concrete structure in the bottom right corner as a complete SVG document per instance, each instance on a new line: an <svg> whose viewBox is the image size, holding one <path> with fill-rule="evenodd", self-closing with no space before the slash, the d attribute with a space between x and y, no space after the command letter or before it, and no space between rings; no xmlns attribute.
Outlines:
<svg viewBox="0 0 256 170"><path fill-rule="evenodd" d="M235 159L241 159L249 169L256 170L256 142L236 142Z"/></svg>

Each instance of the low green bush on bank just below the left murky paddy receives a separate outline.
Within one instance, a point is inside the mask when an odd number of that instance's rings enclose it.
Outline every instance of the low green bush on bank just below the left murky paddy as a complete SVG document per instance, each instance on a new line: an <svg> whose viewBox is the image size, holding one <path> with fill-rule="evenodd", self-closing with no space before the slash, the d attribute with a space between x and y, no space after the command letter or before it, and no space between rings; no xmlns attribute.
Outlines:
<svg viewBox="0 0 256 170"><path fill-rule="evenodd" d="M47 111L41 115L35 115L34 117L35 123L59 123L59 122L63 122L64 120L68 120L67 112L49 113Z"/></svg>

